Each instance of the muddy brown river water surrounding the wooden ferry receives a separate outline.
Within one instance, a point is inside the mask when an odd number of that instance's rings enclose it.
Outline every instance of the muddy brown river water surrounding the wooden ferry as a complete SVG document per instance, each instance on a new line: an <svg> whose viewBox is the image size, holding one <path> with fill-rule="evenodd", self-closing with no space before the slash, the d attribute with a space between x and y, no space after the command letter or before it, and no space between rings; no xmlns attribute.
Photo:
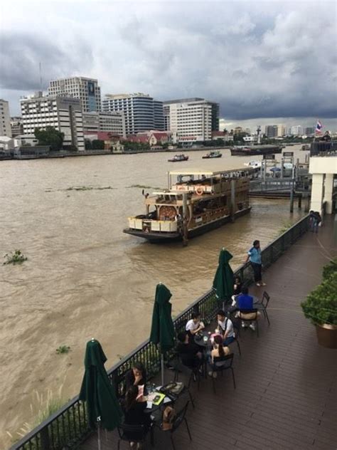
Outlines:
<svg viewBox="0 0 337 450"><path fill-rule="evenodd" d="M299 146L287 150L304 161ZM19 248L28 257L0 266L0 448L11 443L6 431L18 437L34 422L49 390L65 401L78 393L87 340L100 340L108 368L147 338L156 283L171 290L177 315L210 288L221 247L237 267L254 239L266 246L303 214L289 214L289 200L252 199L250 214L186 248L123 234L127 216L144 211L135 185L151 192L166 188L170 169L260 159L203 153L179 163L167 162L172 153L0 162L0 256ZM69 190L81 186L113 189ZM71 351L58 355L60 345Z"/></svg>

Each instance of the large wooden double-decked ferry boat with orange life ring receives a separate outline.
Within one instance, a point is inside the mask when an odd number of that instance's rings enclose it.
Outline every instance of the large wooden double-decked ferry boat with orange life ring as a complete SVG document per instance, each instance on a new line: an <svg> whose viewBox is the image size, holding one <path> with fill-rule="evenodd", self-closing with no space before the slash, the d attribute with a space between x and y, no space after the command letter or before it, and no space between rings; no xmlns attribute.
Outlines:
<svg viewBox="0 0 337 450"><path fill-rule="evenodd" d="M192 238L250 211L250 169L169 172L169 189L145 195L146 213L124 233L162 242Z"/></svg>

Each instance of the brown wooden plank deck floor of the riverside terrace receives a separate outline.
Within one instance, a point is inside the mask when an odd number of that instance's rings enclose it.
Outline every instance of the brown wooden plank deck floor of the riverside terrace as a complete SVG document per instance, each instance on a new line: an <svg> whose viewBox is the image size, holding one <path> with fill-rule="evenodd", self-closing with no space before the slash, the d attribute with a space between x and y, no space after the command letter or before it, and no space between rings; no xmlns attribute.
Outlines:
<svg viewBox="0 0 337 450"><path fill-rule="evenodd" d="M304 235L265 273L271 325L260 321L260 338L249 329L241 333L241 357L232 346L237 389L230 373L218 378L216 395L210 378L199 391L193 385L196 409L187 414L193 441L182 424L177 450L337 449L337 350L317 344L299 306L337 254L332 225L326 220L318 235ZM97 436L80 448L97 449ZM123 442L121 449L128 448ZM156 432L154 448L171 449L169 436ZM117 431L103 434L102 449L117 449Z"/></svg>

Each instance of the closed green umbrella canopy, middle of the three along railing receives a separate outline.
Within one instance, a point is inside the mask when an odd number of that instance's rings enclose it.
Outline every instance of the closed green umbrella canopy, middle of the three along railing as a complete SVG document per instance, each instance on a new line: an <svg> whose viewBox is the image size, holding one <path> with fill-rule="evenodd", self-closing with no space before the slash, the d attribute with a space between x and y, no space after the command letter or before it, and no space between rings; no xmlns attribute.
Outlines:
<svg viewBox="0 0 337 450"><path fill-rule="evenodd" d="M161 352L170 350L174 345L175 331L171 318L172 305L169 302L171 296L171 292L164 284L159 283L156 286L150 341L154 344L160 344Z"/></svg>

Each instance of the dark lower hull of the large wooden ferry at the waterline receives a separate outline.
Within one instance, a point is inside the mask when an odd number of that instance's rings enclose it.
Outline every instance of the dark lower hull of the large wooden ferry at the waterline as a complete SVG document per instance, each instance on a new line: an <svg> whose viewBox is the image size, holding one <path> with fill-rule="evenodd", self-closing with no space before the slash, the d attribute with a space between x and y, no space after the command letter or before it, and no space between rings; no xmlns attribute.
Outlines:
<svg viewBox="0 0 337 450"><path fill-rule="evenodd" d="M246 209L242 209L241 211L237 211L235 213L235 219L237 219L240 216L243 216L250 212L250 209L252 209L251 206L249 206ZM200 236L201 234L205 234L208 231L211 231L213 229L217 229L220 226L223 226L225 224L228 224L228 222L231 221L230 216L221 217L220 219L217 219L213 222L208 222L208 224L198 226L198 228L188 230L188 239L192 239L196 236ZM126 234L131 234L132 236L137 236L140 238L147 239L149 242L153 244L162 244L165 242L172 242L172 241L181 241L183 237L180 233L160 233L155 231L149 231L149 233L146 233L145 231L141 230L135 230L135 229L129 229L126 228L123 230Z"/></svg>

